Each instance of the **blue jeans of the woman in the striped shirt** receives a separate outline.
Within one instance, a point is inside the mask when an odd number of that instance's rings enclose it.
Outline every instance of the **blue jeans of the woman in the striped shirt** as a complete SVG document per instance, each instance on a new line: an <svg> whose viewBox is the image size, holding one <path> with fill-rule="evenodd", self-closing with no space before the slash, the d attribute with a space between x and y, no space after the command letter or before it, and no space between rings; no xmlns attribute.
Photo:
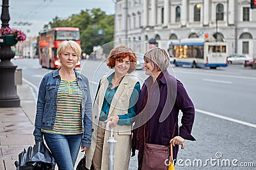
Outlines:
<svg viewBox="0 0 256 170"><path fill-rule="evenodd" d="M51 150L59 170L74 169L83 134L62 135L44 133L44 138Z"/></svg>

